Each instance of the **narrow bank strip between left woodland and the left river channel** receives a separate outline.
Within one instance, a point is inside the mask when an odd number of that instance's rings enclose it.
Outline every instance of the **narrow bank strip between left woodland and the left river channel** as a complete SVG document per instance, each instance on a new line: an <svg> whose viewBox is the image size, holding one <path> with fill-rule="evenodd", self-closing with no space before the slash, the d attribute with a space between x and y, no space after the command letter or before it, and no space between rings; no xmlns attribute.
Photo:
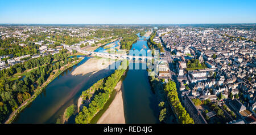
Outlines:
<svg viewBox="0 0 256 135"><path fill-rule="evenodd" d="M84 58L79 58L79 60L73 62L72 64L69 64L69 65L66 65L66 66L63 66L60 68L60 71L57 72L57 70L55 71L55 74L54 75L51 75L48 77L47 81L44 82L44 84L42 84L42 86L38 87L36 90L35 90L35 93L27 99L27 101L24 101L22 104L20 104L20 106L15 110L13 111L9 118L6 120L5 124L10 124L13 122L13 120L15 119L15 117L19 114L19 112L21 112L22 110L24 110L24 108L26 108L32 101L34 101L36 99L36 97L38 97L38 95L42 92L43 89L46 88L46 86L51 83L56 77L58 77L61 73L63 73L66 69L70 68L70 67L73 67L75 66L75 64L78 64L82 61L82 59Z"/></svg>

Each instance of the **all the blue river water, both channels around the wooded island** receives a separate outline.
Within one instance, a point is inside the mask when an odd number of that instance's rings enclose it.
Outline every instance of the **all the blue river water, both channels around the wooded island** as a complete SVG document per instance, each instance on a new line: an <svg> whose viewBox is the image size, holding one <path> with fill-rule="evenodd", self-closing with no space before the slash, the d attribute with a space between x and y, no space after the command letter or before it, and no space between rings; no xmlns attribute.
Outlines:
<svg viewBox="0 0 256 135"><path fill-rule="evenodd" d="M148 37L140 37L132 49L147 50L147 41L144 38ZM53 80L27 108L20 112L14 123L56 123L65 108L77 104L82 91L114 72L113 69L103 69L94 75L71 75L76 67L88 59L89 57L85 57L79 64L67 69ZM146 63L130 63L130 66L135 64L142 67ZM159 123L158 101L151 91L146 69L129 69L123 79L122 89L126 123ZM75 116L72 116L68 123L75 123L74 118Z"/></svg>

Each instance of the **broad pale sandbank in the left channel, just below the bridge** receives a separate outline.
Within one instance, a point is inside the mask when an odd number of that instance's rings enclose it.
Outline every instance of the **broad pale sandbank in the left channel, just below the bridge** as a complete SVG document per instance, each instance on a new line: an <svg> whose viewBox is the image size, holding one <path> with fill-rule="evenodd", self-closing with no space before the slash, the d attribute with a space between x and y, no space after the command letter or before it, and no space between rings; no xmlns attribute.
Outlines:
<svg viewBox="0 0 256 135"><path fill-rule="evenodd" d="M108 60L104 58L90 58L87 60L84 64L81 64L81 66L77 67L71 75L86 75L87 73L93 72L96 73L102 69L107 69L110 64L113 64L114 60Z"/></svg>

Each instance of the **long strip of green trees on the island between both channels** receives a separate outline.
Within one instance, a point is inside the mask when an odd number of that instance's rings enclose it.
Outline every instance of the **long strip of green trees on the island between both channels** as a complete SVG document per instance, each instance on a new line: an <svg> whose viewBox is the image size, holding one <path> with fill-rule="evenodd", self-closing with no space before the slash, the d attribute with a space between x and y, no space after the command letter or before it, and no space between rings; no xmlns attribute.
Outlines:
<svg viewBox="0 0 256 135"><path fill-rule="evenodd" d="M126 61L123 61L126 62ZM122 62L122 63L123 63ZM127 62L127 65L129 63ZM123 65L124 67L127 65ZM100 111L105 103L108 101L110 94L113 92L115 86L121 79L123 73L125 73L126 68L119 68L112 73L111 76L106 77L104 79L96 82L92 87L88 90L82 92L82 99L86 101L88 104L82 107L82 110L76 116L76 123L78 124L88 124L90 120Z"/></svg>

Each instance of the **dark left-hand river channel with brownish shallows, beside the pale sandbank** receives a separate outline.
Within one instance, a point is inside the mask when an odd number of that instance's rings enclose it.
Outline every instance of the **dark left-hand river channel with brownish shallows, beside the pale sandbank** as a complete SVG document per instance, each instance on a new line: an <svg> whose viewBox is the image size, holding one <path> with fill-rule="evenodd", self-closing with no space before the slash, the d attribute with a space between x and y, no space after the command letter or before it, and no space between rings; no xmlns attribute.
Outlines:
<svg viewBox="0 0 256 135"><path fill-rule="evenodd" d="M56 77L28 107L20 112L14 123L56 123L65 108L73 103L77 104L82 91L114 72L114 70L104 69L92 76L90 73L84 76L71 75L76 67L88 59L89 57L85 57L79 64L68 68Z"/></svg>

